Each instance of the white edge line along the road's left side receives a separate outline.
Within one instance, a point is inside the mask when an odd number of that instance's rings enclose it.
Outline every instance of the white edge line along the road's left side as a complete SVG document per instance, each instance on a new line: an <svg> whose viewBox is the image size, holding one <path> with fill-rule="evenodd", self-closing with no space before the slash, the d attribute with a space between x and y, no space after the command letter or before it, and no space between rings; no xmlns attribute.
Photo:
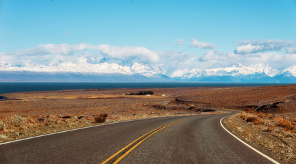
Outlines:
<svg viewBox="0 0 296 164"><path fill-rule="evenodd" d="M149 120L149 119L153 119L153 118L145 118L145 119L138 119L138 120ZM110 122L108 124L98 124L98 125L86 126L86 127L82 127L82 128L74 128L74 129L70 129L70 130L67 130L67 131L58 131L58 132L55 132L55 133L48 133L48 134L45 134L45 135L37 135L37 136L34 136L34 137L27 137L27 138L23 138L23 139L16 139L16 140L13 140L13 141L3 142L3 143L0 143L0 146L1 145L4 145L4 144L7 144L7 143L12 143L12 142L17 142L17 141L23 141L23 140L27 140L27 139L34 139L34 138L38 138L38 137L44 137L44 136L47 136L47 135L56 135L58 133L65 133L65 132L69 132L69 131L77 131L77 130L84 129L84 128L93 128L93 127L96 127L96 126L104 126L104 125L109 125L109 124L119 124L119 123L122 123L122 122L133 122L133 121L138 121L138 120L127 120L127 121L121 121L121 122Z"/></svg>

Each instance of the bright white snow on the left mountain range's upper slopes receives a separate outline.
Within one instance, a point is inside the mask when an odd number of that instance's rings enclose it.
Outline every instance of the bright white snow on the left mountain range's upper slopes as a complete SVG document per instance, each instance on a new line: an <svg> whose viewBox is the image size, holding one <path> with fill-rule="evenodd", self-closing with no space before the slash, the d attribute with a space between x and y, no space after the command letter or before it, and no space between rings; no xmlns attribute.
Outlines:
<svg viewBox="0 0 296 164"><path fill-rule="evenodd" d="M120 63L120 62L118 62ZM161 68L154 68L149 64L138 62L121 64L99 62L93 64L87 57L79 57L76 61L58 60L48 66L36 66L34 64L24 64L25 66L12 66L11 64L0 64L1 70L10 71L32 71L32 72L79 72L79 73L97 73L97 74L141 74L145 77L160 76L166 74ZM124 64L125 63L125 64Z"/></svg>

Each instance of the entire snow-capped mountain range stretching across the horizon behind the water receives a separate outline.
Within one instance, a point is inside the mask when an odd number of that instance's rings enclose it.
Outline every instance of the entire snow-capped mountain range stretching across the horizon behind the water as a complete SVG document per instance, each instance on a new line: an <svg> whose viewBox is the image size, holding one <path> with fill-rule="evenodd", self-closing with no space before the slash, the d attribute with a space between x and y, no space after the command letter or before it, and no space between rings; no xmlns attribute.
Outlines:
<svg viewBox="0 0 296 164"><path fill-rule="evenodd" d="M86 57L77 61L56 61L48 66L0 64L0 81L217 81L217 82L296 82L296 66L280 70L263 64L243 66L215 64L199 70L166 72L140 61L103 58L95 64Z"/></svg>

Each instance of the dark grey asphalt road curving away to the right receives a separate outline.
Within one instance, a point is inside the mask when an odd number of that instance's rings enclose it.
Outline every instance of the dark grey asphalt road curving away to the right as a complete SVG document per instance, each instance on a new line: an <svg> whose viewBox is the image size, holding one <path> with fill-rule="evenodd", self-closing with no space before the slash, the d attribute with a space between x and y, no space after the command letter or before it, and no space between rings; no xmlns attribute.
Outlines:
<svg viewBox="0 0 296 164"><path fill-rule="evenodd" d="M223 130L225 115L137 120L16 141L0 145L0 163L102 163L136 139L107 163L121 157L119 163L271 163Z"/></svg>

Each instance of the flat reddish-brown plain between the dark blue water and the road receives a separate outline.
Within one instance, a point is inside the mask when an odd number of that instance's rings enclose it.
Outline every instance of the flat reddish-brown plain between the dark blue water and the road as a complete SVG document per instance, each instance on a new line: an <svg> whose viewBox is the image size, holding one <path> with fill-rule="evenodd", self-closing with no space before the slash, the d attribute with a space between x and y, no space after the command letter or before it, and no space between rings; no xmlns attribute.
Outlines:
<svg viewBox="0 0 296 164"><path fill-rule="evenodd" d="M123 95L151 90L151 96ZM162 96L165 95L165 96ZM163 110L159 105L195 105L201 109L260 109L295 116L296 85L266 87L182 87L108 90L61 90L2 94L1 117L8 115L134 115ZM277 103L277 104L276 104ZM172 109L172 108L167 108ZM184 108L180 108L184 109Z"/></svg>

